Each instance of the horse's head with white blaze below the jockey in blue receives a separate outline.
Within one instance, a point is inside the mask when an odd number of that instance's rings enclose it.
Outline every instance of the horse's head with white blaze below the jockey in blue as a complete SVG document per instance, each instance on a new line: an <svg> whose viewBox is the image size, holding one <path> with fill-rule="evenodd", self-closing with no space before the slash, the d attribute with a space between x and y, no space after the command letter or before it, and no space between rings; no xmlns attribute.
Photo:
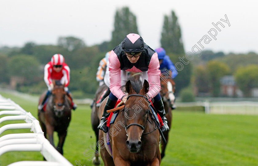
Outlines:
<svg viewBox="0 0 258 166"><path fill-rule="evenodd" d="M175 92L175 82L171 78L162 77L160 79L160 96L164 101L170 100L171 104L174 104L174 92Z"/></svg>

